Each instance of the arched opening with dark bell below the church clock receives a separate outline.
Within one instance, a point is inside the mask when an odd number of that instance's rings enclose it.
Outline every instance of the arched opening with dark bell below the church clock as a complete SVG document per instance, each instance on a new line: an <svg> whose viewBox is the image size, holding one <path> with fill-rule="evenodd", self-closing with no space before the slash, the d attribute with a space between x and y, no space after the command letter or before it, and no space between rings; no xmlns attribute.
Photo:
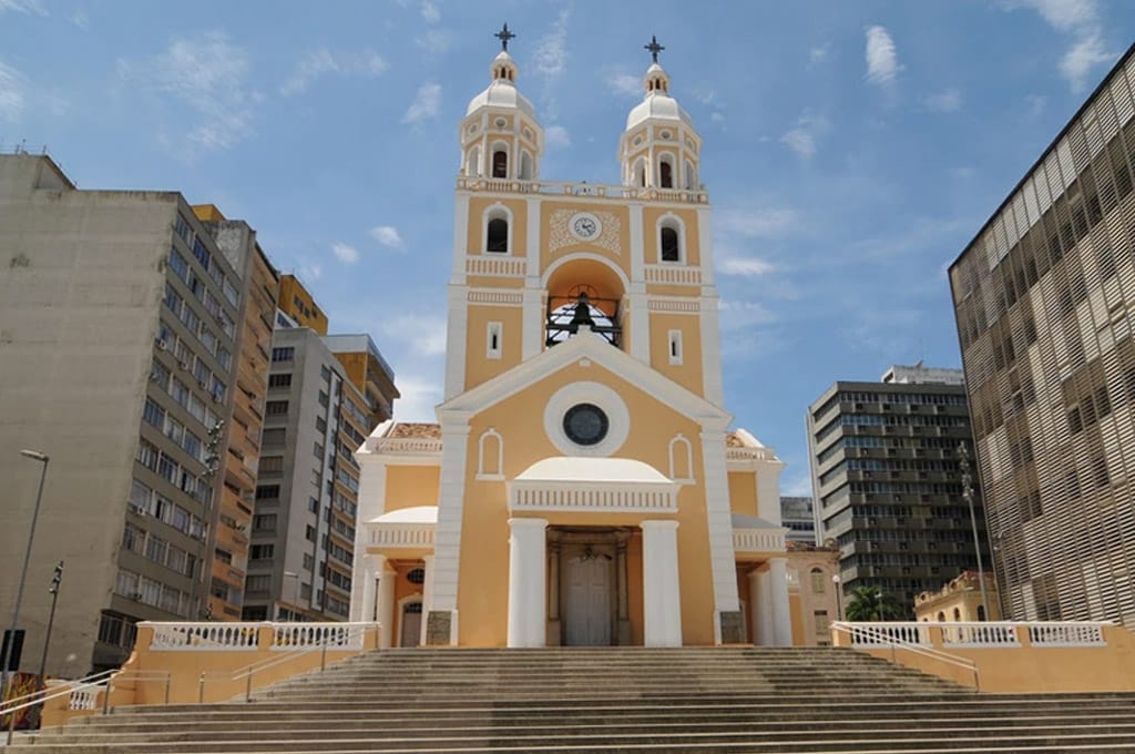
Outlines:
<svg viewBox="0 0 1135 754"><path fill-rule="evenodd" d="M578 259L556 269L547 283L545 345L563 343L587 326L596 337L622 347L623 291L619 275L597 260Z"/></svg>

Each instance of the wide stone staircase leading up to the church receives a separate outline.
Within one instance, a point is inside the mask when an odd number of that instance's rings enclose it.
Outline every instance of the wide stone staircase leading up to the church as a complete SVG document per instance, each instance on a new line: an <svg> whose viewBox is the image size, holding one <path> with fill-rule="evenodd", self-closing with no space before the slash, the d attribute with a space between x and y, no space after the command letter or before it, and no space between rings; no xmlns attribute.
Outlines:
<svg viewBox="0 0 1135 754"><path fill-rule="evenodd" d="M834 648L393 650L6 754L1135 752L1135 695L985 695Z"/></svg>

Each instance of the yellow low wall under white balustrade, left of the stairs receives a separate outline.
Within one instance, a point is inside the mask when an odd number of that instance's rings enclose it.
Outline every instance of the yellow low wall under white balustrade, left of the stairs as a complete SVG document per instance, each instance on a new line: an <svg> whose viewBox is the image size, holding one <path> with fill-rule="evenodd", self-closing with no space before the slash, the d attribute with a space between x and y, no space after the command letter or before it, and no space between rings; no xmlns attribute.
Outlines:
<svg viewBox="0 0 1135 754"><path fill-rule="evenodd" d="M264 623L246 629L250 646L246 648L207 648L184 646L177 648L154 645L154 632L160 625L140 623L137 640L129 660L110 681L110 707L149 704L196 704L199 702L227 702L242 697L250 688L250 679L234 678L257 665L251 677L253 690L292 676L318 670L321 665L355 656L379 647L378 623L360 626L362 648L322 647L287 648L274 646L277 625ZM255 644L251 636L255 634ZM260 668L262 667L262 669ZM203 680L202 680L203 679ZM64 688L59 686L58 688ZM91 714L99 714L106 702L103 689L91 689L95 695L93 709L72 710L70 698L64 694L44 703L42 727L62 726Z"/></svg>

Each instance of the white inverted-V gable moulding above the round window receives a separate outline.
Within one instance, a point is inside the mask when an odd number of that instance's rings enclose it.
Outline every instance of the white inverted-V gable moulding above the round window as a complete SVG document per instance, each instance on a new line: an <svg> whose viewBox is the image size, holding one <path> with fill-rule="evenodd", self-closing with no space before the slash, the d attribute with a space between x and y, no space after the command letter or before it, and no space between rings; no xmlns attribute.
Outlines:
<svg viewBox="0 0 1135 754"><path fill-rule="evenodd" d="M575 337L568 338L566 342L547 349L508 371L442 403L437 407L437 416L444 420L447 416L460 418L479 413L580 359L590 359L679 413L705 426L724 432L733 419L724 409L655 371L603 338L591 336L582 327Z"/></svg>

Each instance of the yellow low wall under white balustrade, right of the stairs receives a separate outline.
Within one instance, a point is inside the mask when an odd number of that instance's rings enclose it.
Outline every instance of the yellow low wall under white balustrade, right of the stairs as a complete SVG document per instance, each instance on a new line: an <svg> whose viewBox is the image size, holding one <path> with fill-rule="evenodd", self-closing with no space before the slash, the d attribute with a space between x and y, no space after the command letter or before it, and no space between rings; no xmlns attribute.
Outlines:
<svg viewBox="0 0 1135 754"><path fill-rule="evenodd" d="M856 626L850 623L849 626ZM885 623L873 623L885 626ZM977 688L987 693L1052 694L1060 692L1135 692L1135 635L1121 626L1100 626L1103 644L1042 645L1029 640L1029 625L1014 623L1017 646L959 646L943 640L950 623L920 625L934 652L973 662ZM990 623L997 626L997 623ZM974 687L969 668L902 646L854 645L851 635L834 626L836 646L851 647L962 686Z"/></svg>

